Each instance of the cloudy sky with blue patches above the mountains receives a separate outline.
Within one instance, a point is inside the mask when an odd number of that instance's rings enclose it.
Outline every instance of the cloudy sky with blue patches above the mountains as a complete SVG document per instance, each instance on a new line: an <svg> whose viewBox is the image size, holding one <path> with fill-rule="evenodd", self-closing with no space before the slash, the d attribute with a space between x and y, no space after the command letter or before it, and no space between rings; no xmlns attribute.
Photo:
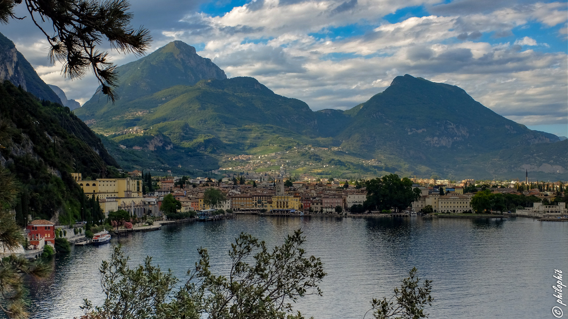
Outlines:
<svg viewBox="0 0 568 319"><path fill-rule="evenodd" d="M133 25L152 32L149 52L184 41L228 77L257 78L314 111L346 110L410 74L460 86L508 119L568 136L567 2L143 0L131 9ZM68 98L93 95L93 75L70 81L49 64L30 19L0 32ZM118 65L139 58L111 54Z"/></svg>

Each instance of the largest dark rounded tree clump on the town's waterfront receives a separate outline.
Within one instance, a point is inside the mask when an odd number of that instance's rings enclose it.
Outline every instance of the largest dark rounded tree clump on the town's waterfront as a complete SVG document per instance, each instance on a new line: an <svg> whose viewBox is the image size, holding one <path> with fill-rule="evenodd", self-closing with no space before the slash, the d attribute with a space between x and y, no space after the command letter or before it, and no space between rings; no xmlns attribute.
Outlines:
<svg viewBox="0 0 568 319"><path fill-rule="evenodd" d="M412 189L412 181L408 178L400 179L396 174L375 178L365 183L367 199L364 206L367 209L391 209L400 212L406 209L415 200L420 198L420 189Z"/></svg>

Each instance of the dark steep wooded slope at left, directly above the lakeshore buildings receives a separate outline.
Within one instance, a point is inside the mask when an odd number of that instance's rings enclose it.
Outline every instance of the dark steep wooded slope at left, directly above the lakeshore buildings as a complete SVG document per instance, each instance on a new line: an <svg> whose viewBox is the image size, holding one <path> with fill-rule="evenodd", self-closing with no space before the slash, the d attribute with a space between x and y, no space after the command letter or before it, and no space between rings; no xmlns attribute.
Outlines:
<svg viewBox="0 0 568 319"><path fill-rule="evenodd" d="M16 219L24 216L69 225L81 220L85 196L71 173L83 178L119 177L118 163L77 116L59 103L0 84L0 165L20 185ZM32 210L33 209L33 210Z"/></svg>

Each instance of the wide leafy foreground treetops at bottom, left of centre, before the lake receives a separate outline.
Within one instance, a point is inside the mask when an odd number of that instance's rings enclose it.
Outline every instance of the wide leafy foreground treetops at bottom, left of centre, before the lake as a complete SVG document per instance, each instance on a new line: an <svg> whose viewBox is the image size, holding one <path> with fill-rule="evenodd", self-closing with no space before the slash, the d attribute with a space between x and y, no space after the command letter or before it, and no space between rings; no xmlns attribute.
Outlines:
<svg viewBox="0 0 568 319"><path fill-rule="evenodd" d="M177 291L172 272L153 266L151 257L130 269L117 246L111 261L101 266L105 303L93 308L85 299L83 318L303 318L292 304L303 296L321 295L318 284L326 275L319 258L305 255L304 241L296 230L269 250L264 241L241 233L229 250L232 267L227 275L213 274L208 251L200 248L199 261Z"/></svg>

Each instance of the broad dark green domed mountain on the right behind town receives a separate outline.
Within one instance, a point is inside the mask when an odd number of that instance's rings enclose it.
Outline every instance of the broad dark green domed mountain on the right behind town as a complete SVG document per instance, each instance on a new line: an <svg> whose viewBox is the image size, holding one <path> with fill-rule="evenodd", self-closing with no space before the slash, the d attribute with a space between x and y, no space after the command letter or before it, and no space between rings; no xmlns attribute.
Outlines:
<svg viewBox="0 0 568 319"><path fill-rule="evenodd" d="M421 166L420 175L492 174L490 168L479 171L483 163L471 158L559 141L556 135L532 131L496 114L457 86L408 74L345 113L352 115L352 122L336 136L343 149L366 157L397 156ZM562 153L559 144L549 147ZM511 167L524 165L521 158L508 161Z"/></svg>

